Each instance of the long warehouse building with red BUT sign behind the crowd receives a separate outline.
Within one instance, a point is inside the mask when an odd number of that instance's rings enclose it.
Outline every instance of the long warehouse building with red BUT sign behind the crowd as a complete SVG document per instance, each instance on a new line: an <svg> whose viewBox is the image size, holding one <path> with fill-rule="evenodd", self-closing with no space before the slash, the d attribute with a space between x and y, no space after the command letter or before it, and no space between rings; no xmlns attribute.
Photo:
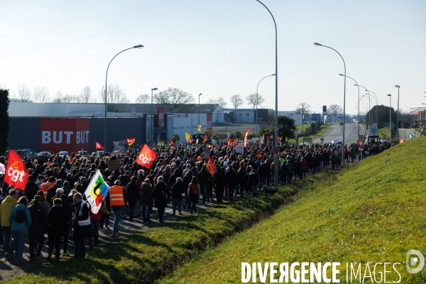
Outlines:
<svg viewBox="0 0 426 284"><path fill-rule="evenodd" d="M107 113L107 144L126 145L126 138L136 138L136 146L168 141L173 133L185 142L185 132L212 130L222 124L224 111L217 104L185 105L171 109L159 104L109 105ZM153 110L151 112L151 109ZM165 110L166 109L166 110ZM169 110L167 110L169 109ZM104 144L104 104L35 104L11 102L10 146L13 149L31 148L34 151L94 152L94 142ZM153 121L151 121L153 118ZM152 128L153 126L153 128Z"/></svg>

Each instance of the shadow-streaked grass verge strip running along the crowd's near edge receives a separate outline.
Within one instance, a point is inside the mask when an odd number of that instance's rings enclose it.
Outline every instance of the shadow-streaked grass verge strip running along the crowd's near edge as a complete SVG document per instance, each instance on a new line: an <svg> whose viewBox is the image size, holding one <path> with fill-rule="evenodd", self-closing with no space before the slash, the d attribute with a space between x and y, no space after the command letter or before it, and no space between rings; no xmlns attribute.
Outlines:
<svg viewBox="0 0 426 284"><path fill-rule="evenodd" d="M4 282L153 283L203 251L219 246L226 237L270 216L291 201L290 190L212 207L88 251L83 261L45 263L36 271Z"/></svg>

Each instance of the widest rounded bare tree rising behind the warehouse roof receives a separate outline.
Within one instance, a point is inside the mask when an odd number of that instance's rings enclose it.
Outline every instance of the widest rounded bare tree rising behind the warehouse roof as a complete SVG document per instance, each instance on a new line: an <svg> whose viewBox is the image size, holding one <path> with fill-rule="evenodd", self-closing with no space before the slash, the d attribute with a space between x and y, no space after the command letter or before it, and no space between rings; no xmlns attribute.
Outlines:
<svg viewBox="0 0 426 284"><path fill-rule="evenodd" d="M194 97L179 88L168 88L164 91L158 92L154 95L154 101L158 104L162 104L165 107L165 111L182 111L182 107L185 104L194 102Z"/></svg>

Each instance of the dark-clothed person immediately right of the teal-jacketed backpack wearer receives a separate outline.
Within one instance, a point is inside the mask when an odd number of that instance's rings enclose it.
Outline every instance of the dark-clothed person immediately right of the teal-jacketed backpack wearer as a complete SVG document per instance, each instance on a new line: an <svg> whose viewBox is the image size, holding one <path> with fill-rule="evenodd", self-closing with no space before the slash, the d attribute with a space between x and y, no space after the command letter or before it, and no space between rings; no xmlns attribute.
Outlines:
<svg viewBox="0 0 426 284"><path fill-rule="evenodd" d="M44 244L44 229L46 227L45 209L41 207L40 195L34 195L33 204L28 207L31 216L29 232L30 260L41 261L40 254Z"/></svg>

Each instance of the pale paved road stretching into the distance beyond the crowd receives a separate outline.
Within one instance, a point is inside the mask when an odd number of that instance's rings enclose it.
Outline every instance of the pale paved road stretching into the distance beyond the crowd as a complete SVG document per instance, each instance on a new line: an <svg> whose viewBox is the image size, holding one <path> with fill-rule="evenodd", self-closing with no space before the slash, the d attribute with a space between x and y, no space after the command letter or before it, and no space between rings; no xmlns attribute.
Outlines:
<svg viewBox="0 0 426 284"><path fill-rule="evenodd" d="M359 124L345 124L344 126L344 143L351 144L356 143L358 140L358 127L359 133L364 135L364 129ZM321 143L321 138L324 138L324 143L330 143L334 139L342 140L343 138L343 126L339 124L332 124L329 126L327 131L321 137L314 139L312 143Z"/></svg>

